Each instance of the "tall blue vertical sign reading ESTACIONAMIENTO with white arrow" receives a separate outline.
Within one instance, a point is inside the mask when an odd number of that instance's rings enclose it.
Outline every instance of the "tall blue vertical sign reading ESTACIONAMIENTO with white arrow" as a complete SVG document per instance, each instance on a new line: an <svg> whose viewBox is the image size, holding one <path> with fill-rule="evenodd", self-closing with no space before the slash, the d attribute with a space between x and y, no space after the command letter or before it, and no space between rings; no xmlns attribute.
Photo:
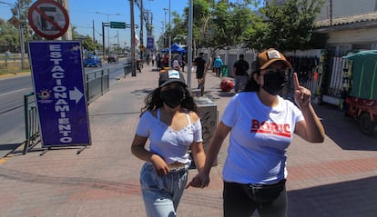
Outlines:
<svg viewBox="0 0 377 217"><path fill-rule="evenodd" d="M42 146L90 145L81 43L29 42Z"/></svg>

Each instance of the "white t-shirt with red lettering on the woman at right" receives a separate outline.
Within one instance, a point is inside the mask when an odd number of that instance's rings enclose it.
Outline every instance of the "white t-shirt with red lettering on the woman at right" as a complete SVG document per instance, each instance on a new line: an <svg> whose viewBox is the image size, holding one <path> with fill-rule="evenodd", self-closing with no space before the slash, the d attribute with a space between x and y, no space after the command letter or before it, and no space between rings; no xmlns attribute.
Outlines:
<svg viewBox="0 0 377 217"><path fill-rule="evenodd" d="M223 179L239 183L275 183L286 178L286 149L301 110L280 96L276 107L260 102L256 92L236 94L221 122L231 127Z"/></svg>

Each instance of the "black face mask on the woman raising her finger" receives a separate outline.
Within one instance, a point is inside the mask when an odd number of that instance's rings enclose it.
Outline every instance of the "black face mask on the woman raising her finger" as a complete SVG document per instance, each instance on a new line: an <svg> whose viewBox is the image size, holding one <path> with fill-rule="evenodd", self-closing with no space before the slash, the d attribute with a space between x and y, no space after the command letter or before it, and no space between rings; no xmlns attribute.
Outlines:
<svg viewBox="0 0 377 217"><path fill-rule="evenodd" d="M285 71L277 71L264 74L264 85L262 88L271 95L277 95L288 83Z"/></svg>

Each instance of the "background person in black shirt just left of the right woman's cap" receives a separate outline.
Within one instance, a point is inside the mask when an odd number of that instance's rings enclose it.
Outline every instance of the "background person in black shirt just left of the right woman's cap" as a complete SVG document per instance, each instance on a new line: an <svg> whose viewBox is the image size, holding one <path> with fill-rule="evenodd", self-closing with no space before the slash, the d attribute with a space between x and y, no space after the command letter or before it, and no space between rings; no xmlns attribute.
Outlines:
<svg viewBox="0 0 377 217"><path fill-rule="evenodd" d="M233 75L234 75L234 91L239 93L245 88L248 83L249 76L249 63L244 60L244 54L239 54L239 60L233 64Z"/></svg>

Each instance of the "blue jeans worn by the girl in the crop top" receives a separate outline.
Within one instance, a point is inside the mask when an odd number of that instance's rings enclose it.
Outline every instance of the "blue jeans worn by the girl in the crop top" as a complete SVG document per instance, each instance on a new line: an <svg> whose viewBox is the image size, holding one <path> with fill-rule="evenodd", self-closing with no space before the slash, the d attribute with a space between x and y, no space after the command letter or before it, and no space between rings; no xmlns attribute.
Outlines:
<svg viewBox="0 0 377 217"><path fill-rule="evenodd" d="M140 172L140 186L148 217L174 217L188 182L189 165L181 170L158 176L151 163Z"/></svg>

